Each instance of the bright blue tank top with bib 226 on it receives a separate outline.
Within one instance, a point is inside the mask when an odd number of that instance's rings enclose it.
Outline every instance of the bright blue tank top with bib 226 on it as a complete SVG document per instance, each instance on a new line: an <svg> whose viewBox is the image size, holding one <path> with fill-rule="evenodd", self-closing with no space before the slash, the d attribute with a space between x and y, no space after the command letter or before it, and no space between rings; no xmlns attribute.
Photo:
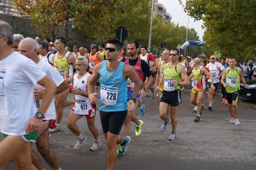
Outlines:
<svg viewBox="0 0 256 170"><path fill-rule="evenodd" d="M99 111L126 111L127 77L123 79L124 63L120 62L117 70L108 72L107 61L102 61L99 70L100 100Z"/></svg>

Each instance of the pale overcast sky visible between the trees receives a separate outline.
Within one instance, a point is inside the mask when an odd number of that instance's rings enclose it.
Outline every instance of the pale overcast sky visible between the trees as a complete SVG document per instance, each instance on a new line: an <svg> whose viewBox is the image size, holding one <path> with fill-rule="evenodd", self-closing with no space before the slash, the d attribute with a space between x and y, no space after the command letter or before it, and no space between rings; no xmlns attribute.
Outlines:
<svg viewBox="0 0 256 170"><path fill-rule="evenodd" d="M183 4L185 4L185 0L182 0L182 2ZM158 3L163 4L164 7L166 8L166 12L173 17L171 22L179 24L180 26L187 27L187 23L189 20L189 29L194 28L198 33L200 40L203 39L203 29L201 28L201 25L203 25L203 21L199 20L194 22L194 18L187 16L187 13L183 12L183 7L181 4L179 4L178 0L158 0ZM186 38L184 38L184 42L185 39Z"/></svg>

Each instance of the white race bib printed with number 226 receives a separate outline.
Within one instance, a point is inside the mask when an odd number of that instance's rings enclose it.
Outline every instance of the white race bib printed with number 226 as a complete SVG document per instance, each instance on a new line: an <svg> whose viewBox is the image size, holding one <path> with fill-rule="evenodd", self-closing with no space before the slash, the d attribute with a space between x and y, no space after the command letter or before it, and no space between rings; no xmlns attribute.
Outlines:
<svg viewBox="0 0 256 170"><path fill-rule="evenodd" d="M118 88L109 88L101 85L101 102L105 105L116 105Z"/></svg>

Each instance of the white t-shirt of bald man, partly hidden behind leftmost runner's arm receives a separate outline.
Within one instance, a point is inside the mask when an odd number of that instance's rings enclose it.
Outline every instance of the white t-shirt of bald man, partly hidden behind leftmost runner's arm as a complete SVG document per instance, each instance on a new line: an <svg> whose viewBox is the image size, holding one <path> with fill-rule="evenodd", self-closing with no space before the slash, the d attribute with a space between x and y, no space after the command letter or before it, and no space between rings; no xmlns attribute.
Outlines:
<svg viewBox="0 0 256 170"><path fill-rule="evenodd" d="M58 73L58 71L51 65L49 65L48 61L44 61L42 59L39 60L37 63L38 68L40 68L43 72L46 73L56 84L56 87L60 86L62 82L64 82L63 77ZM40 86L37 84L38 88L44 89L43 86ZM42 103L42 100L39 100L39 104ZM36 104L37 105L37 104ZM56 120L56 109L55 109L55 98L51 100L51 103L49 104L49 107L44 114L46 118L44 120Z"/></svg>

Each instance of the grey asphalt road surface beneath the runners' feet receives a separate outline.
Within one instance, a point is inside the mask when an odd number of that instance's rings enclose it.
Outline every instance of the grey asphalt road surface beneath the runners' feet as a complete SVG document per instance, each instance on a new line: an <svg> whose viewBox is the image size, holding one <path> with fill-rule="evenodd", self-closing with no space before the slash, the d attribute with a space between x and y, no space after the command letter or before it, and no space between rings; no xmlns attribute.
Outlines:
<svg viewBox="0 0 256 170"><path fill-rule="evenodd" d="M169 125L165 132L160 130L162 120L158 116L157 99L145 97L145 115L139 109L135 112L144 121L142 134L135 136L132 123L131 142L126 153L117 158L115 169L256 169L256 110L255 103L239 98L238 118L241 125L229 123L228 107L221 104L221 96L214 98L212 111L205 109L200 123L195 123L196 113L190 104L190 91L182 91L182 104L178 109L178 126L175 141L168 141L171 132ZM73 98L70 93L69 98ZM207 95L205 95L207 99ZM85 118L77 122L80 130L87 135L87 141L79 151L73 150L76 137L65 126L72 106L65 107L61 131L49 139L62 169L106 169L106 143L103 137L99 114L96 114L96 127L103 142L98 151L89 151L93 143L92 134ZM33 146L35 150L35 147ZM51 169L41 158L46 169ZM1 160L0 160L1 161ZM15 169L10 162L5 169Z"/></svg>

